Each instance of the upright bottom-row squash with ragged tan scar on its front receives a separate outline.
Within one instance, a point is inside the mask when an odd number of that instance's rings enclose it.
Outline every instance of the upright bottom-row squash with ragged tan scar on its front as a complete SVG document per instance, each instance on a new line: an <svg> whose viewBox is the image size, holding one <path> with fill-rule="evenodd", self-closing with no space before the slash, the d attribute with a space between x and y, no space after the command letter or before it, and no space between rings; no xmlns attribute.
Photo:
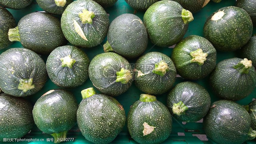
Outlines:
<svg viewBox="0 0 256 144"><path fill-rule="evenodd" d="M141 94L129 110L127 127L138 143L162 143L171 134L171 114L155 96Z"/></svg>

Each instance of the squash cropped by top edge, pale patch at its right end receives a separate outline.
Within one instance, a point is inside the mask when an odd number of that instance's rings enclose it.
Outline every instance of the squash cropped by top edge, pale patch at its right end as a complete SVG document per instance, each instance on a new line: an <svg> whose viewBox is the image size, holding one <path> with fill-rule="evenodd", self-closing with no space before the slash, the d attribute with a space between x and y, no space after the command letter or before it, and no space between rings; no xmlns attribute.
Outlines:
<svg viewBox="0 0 256 144"><path fill-rule="evenodd" d="M184 9L190 12L198 12L205 7L210 0L174 0L178 2Z"/></svg>

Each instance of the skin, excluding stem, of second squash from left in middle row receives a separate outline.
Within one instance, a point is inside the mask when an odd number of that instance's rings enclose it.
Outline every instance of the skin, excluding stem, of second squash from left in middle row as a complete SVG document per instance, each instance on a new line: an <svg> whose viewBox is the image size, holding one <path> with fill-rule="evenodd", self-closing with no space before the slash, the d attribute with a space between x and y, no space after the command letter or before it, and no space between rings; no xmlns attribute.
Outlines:
<svg viewBox="0 0 256 144"><path fill-rule="evenodd" d="M61 58L71 55L75 59L72 68L62 67ZM46 70L51 81L63 88L74 88L88 79L90 60L85 52L75 46L58 47L51 52L46 61Z"/></svg>

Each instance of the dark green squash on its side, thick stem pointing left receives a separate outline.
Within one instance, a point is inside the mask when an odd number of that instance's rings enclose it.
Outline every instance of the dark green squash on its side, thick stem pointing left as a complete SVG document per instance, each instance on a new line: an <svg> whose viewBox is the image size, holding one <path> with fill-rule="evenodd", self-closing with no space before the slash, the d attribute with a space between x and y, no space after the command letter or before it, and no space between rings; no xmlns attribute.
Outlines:
<svg viewBox="0 0 256 144"><path fill-rule="evenodd" d="M60 28L60 20L46 12L25 15L17 27L9 30L8 35L11 42L21 42L24 48L39 54L49 54L67 43Z"/></svg>

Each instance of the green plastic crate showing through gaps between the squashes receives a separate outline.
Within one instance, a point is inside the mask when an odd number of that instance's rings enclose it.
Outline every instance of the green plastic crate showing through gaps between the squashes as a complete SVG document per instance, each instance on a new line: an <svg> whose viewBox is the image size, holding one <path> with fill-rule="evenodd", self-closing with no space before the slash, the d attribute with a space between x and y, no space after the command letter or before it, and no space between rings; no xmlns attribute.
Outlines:
<svg viewBox="0 0 256 144"><path fill-rule="evenodd" d="M207 4L200 12L197 12L195 14L193 14L194 16L194 20L189 23L189 28L188 28L188 32L185 34L185 37L188 37L190 35L199 35L199 36L203 36L203 26L205 24L206 19L216 10L220 9L221 7L226 7L226 6L234 6L235 5L235 0L223 0L220 3L213 3L212 1L209 2L209 4ZM16 23L18 23L18 21L26 14L29 14L31 12L35 12L35 11L43 11L38 4L36 3L36 1L33 1L32 4L26 8L24 8L23 10L10 10L8 9L14 16ZM116 2L116 4L113 7L110 8L106 8L105 9L107 11L107 13L109 14L109 18L110 18L110 22L112 20L114 20L117 16L124 14L124 13L134 13L134 10L124 1L124 0L118 0ZM141 19L143 19L143 15L144 12L136 12L135 15L139 16ZM58 18L60 18L61 16L58 15ZM254 34L256 33L256 28L254 27ZM85 51L85 53L88 54L90 60L96 56L99 53L104 53L103 50L103 44L106 42L106 38L105 40L98 46L94 47L94 48L90 48L90 49L83 49ZM17 48L17 47L22 47L20 42L15 42L12 45L10 45L9 48ZM149 42L148 48L145 51L145 53L148 52L152 52L152 51L158 51L161 53L165 53L167 56L171 56L171 51L172 51L173 47L170 48L161 48L161 47L157 47L157 46L153 46L151 42ZM7 48L8 49L8 48ZM5 50L0 50L0 53L4 52ZM233 57L238 57L239 54L236 52L217 52L217 63L221 60L227 59L227 58L233 58ZM44 61L46 61L47 56L42 56L42 58L44 59ZM129 61L131 64L135 63L136 60L131 60ZM177 83L180 82L184 82L184 81L188 81L188 80L184 80L181 78L176 79L176 82L174 85L176 85ZM202 85L203 87L205 87L208 92L210 93L211 96L211 100L212 102L218 100L219 98L213 94L213 91L211 90L211 88L209 87L208 84L208 77L202 79L202 80L195 80L194 82L199 83L200 85ZM82 100L82 96L81 96L81 91L85 88L89 88L89 87L93 87L90 79L88 79L82 86L79 86L77 88L73 88L73 89L68 89L69 91L71 91L77 99L77 102L80 103L80 101ZM51 80L48 78L48 81L46 82L46 85L35 95L32 96L27 96L26 99L28 99L32 104L35 104L35 102L37 101L37 99L43 95L45 92L51 90L51 89L56 89L56 88L60 88L56 85L54 85L54 83L51 82ZM97 91L99 92L99 91ZM137 101L139 99L140 94L142 94L143 92L140 91L138 88L136 88L135 84L132 84L132 86L129 88L129 90L120 95L115 97L123 106L124 106L124 110L126 112L126 115L128 114L130 105L132 105L135 101ZM163 95L157 96L157 99L161 102L163 102L164 104L166 104L166 96L168 93L165 93ZM253 98L255 98L256 96L256 89L254 89L254 91L247 96L246 98L238 101L239 104L241 105L246 105L249 102L252 101ZM212 140L207 140L208 138L206 138L205 136L205 132L202 129L202 120L196 123L182 123L181 121L177 121L174 118L172 119L173 121L173 128L172 128L172 132L170 137L168 137L168 139L164 142L164 143L214 143ZM198 137L199 136L202 140L200 140ZM43 139L43 141L32 141L32 142L21 142L21 143L53 143L51 142L51 135L49 134L43 134L35 125L32 129L32 131L29 134L26 134L23 138L26 139L38 139L41 140ZM22 139L23 139L22 138ZM77 127L77 124L68 132L67 138L74 138L74 141L69 141L69 142L62 142L64 143L90 143L88 140L85 139L85 137L82 136L81 132L79 132L79 129ZM50 142L47 142L47 139L50 140ZM12 143L12 142L10 142ZM136 143L130 136L127 130L127 125L125 125L123 131L116 137L116 139L112 142L112 143ZM256 141L247 141L245 143L256 143Z"/></svg>

